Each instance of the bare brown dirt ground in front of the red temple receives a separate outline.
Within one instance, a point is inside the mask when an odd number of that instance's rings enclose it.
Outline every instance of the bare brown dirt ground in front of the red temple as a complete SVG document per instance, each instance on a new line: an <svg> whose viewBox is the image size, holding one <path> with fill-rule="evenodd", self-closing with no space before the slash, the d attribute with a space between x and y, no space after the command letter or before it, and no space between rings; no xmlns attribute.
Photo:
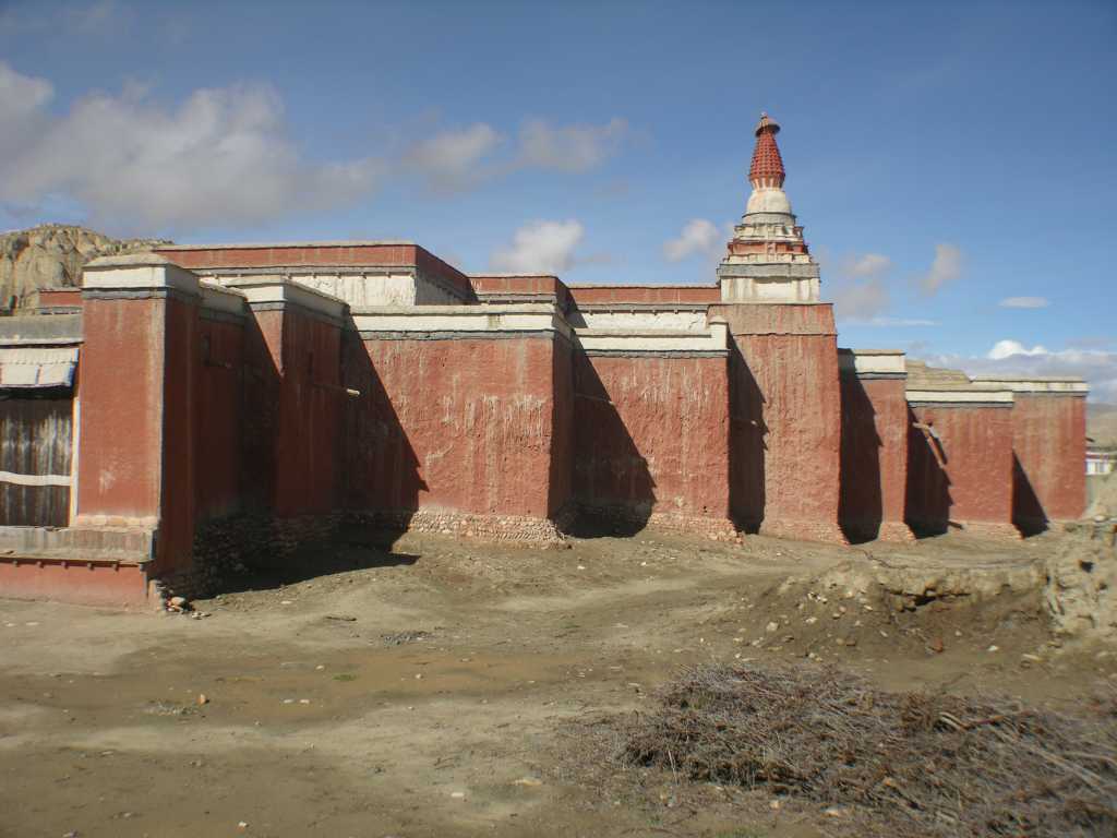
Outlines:
<svg viewBox="0 0 1117 838"><path fill-rule="evenodd" d="M762 792L618 791L572 723L710 661L1072 707L1117 654L1049 632L1028 580L1066 537L404 536L304 554L198 617L0 600L0 836L825 835L823 812ZM987 573L994 594L865 582L897 566Z"/></svg>

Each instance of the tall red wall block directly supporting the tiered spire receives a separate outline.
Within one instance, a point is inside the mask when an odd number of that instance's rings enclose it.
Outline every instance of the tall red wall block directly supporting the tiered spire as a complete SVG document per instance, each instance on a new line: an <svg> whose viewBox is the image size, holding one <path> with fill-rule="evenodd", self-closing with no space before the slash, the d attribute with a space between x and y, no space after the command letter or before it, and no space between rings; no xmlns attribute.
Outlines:
<svg viewBox="0 0 1117 838"><path fill-rule="evenodd" d="M712 305L729 361L731 503L738 525L843 542L838 527L841 396L829 304Z"/></svg>

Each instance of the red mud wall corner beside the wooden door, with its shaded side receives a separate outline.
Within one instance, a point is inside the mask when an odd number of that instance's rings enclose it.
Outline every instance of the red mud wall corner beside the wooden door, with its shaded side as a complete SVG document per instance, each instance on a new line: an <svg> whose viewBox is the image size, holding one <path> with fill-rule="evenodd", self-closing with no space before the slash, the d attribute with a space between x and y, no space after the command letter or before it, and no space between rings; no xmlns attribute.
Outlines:
<svg viewBox="0 0 1117 838"><path fill-rule="evenodd" d="M155 570L180 569L198 520L238 506L242 328L174 295L84 310L78 515L157 524Z"/></svg>

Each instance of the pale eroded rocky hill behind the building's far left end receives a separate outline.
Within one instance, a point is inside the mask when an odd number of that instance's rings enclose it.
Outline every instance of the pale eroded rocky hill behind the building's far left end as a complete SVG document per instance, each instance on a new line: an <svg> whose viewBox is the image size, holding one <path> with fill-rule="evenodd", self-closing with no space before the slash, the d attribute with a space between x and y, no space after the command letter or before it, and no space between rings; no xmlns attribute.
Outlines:
<svg viewBox="0 0 1117 838"><path fill-rule="evenodd" d="M79 285L82 266L98 256L169 245L163 239L113 239L84 227L39 225L0 235L0 310L34 306L39 288Z"/></svg>

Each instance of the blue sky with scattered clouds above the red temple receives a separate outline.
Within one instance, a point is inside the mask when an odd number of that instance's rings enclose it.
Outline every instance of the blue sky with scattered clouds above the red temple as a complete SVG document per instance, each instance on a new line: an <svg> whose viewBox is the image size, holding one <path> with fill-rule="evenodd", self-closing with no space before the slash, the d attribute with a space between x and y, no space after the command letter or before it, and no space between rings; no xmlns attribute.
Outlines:
<svg viewBox="0 0 1117 838"><path fill-rule="evenodd" d="M753 127L840 342L1117 401L1117 4L0 1L0 229L708 283Z"/></svg>

